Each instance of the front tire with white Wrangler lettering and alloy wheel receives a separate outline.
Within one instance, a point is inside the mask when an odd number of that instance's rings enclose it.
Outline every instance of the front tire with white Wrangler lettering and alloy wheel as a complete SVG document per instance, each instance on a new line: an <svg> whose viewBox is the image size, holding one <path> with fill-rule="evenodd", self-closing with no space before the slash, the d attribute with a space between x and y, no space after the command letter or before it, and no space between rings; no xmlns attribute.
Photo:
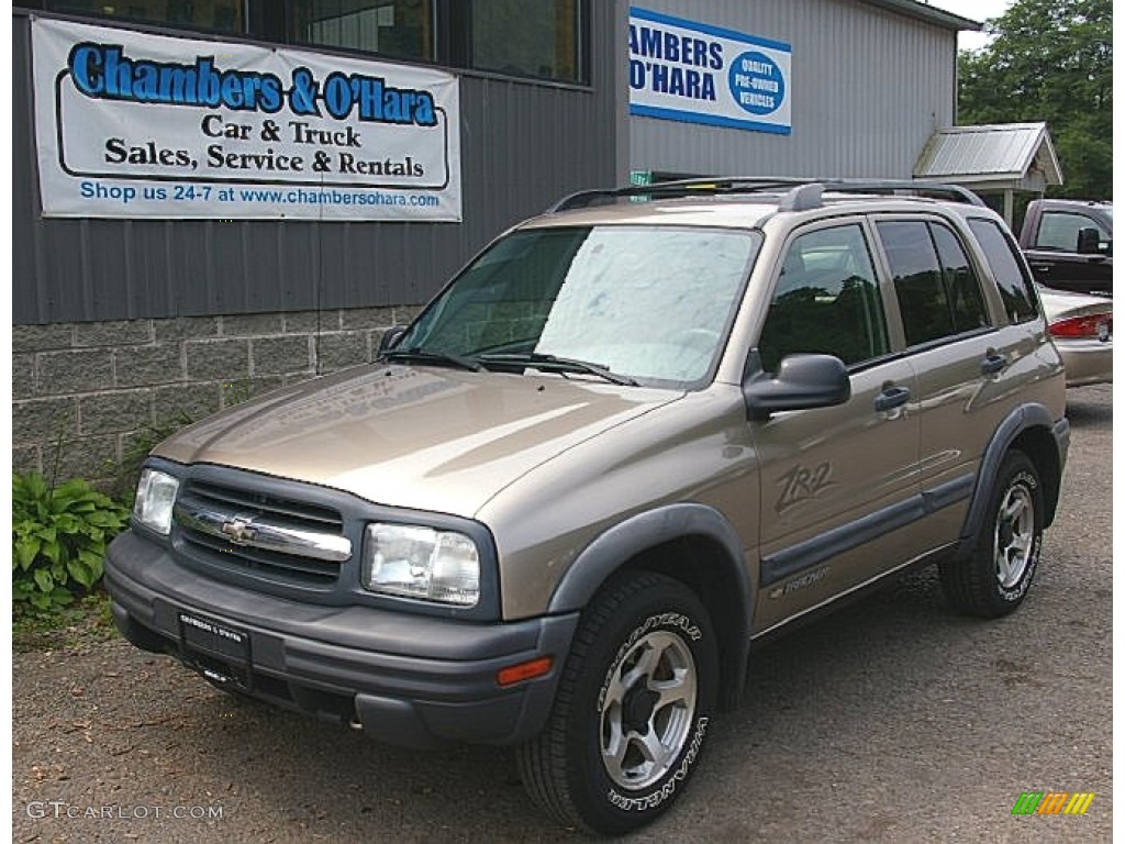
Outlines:
<svg viewBox="0 0 1125 844"><path fill-rule="evenodd" d="M524 787L565 826L649 824L694 772L717 692L695 594L652 573L614 578L583 613L547 726L518 753Z"/></svg>

